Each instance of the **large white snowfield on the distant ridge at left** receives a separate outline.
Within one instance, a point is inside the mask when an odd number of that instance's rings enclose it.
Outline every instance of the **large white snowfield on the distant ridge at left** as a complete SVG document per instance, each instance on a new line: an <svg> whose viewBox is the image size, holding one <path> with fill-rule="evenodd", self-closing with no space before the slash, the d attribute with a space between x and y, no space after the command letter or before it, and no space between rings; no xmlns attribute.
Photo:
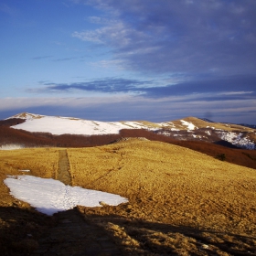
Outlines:
<svg viewBox="0 0 256 256"><path fill-rule="evenodd" d="M60 134L82 134L82 135L100 135L117 134L122 129L146 129L155 131L163 127L174 126L173 123L144 123L144 122L100 122L83 120L79 118L46 116L32 113L20 113L11 118L20 118L26 120L12 126L15 129L26 130L31 133L52 133Z"/></svg>

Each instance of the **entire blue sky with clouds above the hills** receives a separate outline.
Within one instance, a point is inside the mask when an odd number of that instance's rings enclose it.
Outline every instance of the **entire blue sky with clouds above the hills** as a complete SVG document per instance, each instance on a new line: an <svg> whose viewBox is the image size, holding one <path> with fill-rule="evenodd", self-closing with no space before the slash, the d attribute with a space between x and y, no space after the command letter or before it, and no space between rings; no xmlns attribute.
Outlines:
<svg viewBox="0 0 256 256"><path fill-rule="evenodd" d="M0 119L256 123L255 0L1 0Z"/></svg>

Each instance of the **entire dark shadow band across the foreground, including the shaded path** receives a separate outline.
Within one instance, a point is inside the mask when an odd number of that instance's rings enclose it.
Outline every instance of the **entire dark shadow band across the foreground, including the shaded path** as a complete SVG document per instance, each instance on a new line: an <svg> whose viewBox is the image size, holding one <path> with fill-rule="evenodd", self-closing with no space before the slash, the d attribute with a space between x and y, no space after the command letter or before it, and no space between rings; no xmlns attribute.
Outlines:
<svg viewBox="0 0 256 256"><path fill-rule="evenodd" d="M92 214L87 209L48 217L34 209L0 208L1 255L256 254L255 237Z"/></svg>

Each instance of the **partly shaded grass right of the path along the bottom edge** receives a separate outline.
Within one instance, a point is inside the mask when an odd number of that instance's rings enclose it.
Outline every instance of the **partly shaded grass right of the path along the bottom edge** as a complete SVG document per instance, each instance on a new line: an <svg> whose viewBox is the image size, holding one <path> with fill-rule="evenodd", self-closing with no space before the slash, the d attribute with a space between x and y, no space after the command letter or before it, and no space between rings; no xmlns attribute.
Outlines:
<svg viewBox="0 0 256 256"><path fill-rule="evenodd" d="M256 237L79 209L86 221L107 230L127 255L256 255Z"/></svg>

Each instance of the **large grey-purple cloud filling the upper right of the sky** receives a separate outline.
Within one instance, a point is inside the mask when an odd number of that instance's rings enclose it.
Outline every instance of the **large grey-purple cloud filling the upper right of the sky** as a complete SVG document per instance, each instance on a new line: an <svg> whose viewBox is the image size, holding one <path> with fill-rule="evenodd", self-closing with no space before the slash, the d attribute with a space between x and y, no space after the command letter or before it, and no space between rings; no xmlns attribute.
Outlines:
<svg viewBox="0 0 256 256"><path fill-rule="evenodd" d="M112 48L126 69L155 73L255 70L256 2L76 1L115 22L73 37ZM91 21L100 21L94 16Z"/></svg>

